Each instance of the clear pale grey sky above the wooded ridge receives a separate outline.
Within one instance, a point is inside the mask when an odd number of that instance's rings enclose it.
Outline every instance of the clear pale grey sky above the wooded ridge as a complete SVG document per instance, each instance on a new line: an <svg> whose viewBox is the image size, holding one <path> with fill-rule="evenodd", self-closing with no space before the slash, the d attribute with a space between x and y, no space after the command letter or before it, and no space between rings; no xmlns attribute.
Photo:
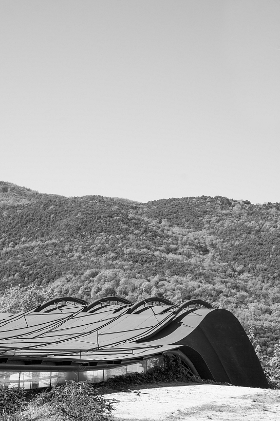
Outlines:
<svg viewBox="0 0 280 421"><path fill-rule="evenodd" d="M280 2L0 0L0 180L280 202Z"/></svg>

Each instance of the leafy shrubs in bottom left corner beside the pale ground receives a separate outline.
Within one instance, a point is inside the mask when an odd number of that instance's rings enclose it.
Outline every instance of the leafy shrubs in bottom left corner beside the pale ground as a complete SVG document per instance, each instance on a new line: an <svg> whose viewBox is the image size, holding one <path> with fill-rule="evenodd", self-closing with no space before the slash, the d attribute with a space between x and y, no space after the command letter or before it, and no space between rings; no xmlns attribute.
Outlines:
<svg viewBox="0 0 280 421"><path fill-rule="evenodd" d="M94 385L74 381L31 399L23 389L0 388L0 400L3 421L108 421L114 409L114 401L103 398Z"/></svg>

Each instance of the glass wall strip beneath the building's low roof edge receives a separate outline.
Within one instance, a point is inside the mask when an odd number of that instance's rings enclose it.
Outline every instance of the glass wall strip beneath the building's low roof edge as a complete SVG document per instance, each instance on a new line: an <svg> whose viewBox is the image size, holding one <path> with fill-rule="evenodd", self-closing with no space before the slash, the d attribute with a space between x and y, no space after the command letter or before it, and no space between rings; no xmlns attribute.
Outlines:
<svg viewBox="0 0 280 421"><path fill-rule="evenodd" d="M9 388L20 385L24 389L37 389L64 384L66 380L88 381L89 383L99 383L115 376L122 376L129 373L146 373L155 366L162 365L163 358L157 357L142 361L137 364L125 365L116 369L94 370L82 372L40 372L40 371L21 371L21 372L0 372L0 387Z"/></svg>

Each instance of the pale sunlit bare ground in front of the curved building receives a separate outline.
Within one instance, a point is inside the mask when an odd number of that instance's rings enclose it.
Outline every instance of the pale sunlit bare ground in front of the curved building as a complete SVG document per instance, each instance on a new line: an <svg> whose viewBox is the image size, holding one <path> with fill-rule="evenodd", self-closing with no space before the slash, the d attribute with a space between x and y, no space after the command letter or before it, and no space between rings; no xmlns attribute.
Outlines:
<svg viewBox="0 0 280 421"><path fill-rule="evenodd" d="M138 390L106 394L119 400L115 421L280 421L280 390L194 383L141 385Z"/></svg>

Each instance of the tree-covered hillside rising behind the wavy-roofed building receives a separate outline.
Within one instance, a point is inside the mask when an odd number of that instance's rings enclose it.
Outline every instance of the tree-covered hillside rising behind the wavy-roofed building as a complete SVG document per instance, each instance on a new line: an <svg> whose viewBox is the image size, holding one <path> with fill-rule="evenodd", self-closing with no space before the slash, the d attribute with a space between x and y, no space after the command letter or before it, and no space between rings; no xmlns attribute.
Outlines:
<svg viewBox="0 0 280 421"><path fill-rule="evenodd" d="M197 297L252 325L268 354L279 339L279 203L66 198L0 182L0 226L2 293Z"/></svg>

